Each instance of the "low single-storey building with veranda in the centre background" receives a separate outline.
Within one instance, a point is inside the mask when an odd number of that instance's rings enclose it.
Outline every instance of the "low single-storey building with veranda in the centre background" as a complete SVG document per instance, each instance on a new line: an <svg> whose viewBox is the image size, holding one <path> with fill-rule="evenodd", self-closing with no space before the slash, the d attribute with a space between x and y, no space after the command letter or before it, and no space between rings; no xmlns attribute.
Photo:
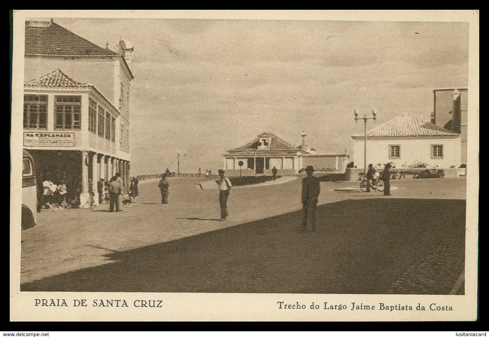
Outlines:
<svg viewBox="0 0 489 337"><path fill-rule="evenodd" d="M308 165L317 170L344 173L348 155L345 153L316 153L306 145L306 133L302 132L302 145L294 147L272 132L263 132L253 141L241 147L227 150L224 169L230 176L271 175L277 169L279 175L297 174Z"/></svg>

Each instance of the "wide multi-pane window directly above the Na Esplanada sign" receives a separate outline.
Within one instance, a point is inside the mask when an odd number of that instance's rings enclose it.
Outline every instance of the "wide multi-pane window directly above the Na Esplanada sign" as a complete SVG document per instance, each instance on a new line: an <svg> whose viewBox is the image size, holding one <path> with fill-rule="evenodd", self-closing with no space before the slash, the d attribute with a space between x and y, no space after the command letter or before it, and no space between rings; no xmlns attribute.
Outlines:
<svg viewBox="0 0 489 337"><path fill-rule="evenodd" d="M55 129L81 128L81 96L55 96Z"/></svg>

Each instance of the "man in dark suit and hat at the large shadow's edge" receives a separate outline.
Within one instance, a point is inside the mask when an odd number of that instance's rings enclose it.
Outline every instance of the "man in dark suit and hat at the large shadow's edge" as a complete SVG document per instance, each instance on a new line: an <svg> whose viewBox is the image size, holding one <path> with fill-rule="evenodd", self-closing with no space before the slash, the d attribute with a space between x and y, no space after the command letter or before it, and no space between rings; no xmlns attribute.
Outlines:
<svg viewBox="0 0 489 337"><path fill-rule="evenodd" d="M306 167L307 176L302 179L302 230L306 230L308 225L311 230L316 226L316 205L319 196L319 179L312 173L314 168L309 165Z"/></svg>

